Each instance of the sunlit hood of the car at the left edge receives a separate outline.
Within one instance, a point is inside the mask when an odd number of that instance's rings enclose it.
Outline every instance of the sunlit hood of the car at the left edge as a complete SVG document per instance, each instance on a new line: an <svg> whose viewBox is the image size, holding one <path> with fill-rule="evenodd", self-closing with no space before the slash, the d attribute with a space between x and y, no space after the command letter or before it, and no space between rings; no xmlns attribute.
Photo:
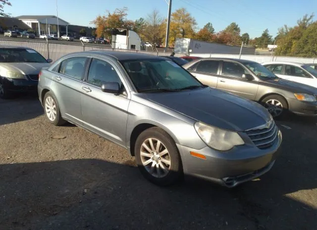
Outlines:
<svg viewBox="0 0 317 230"><path fill-rule="evenodd" d="M50 66L50 63L36 63L36 62L9 62L0 63L1 67L7 70L19 71L22 74L39 74L43 67Z"/></svg>

